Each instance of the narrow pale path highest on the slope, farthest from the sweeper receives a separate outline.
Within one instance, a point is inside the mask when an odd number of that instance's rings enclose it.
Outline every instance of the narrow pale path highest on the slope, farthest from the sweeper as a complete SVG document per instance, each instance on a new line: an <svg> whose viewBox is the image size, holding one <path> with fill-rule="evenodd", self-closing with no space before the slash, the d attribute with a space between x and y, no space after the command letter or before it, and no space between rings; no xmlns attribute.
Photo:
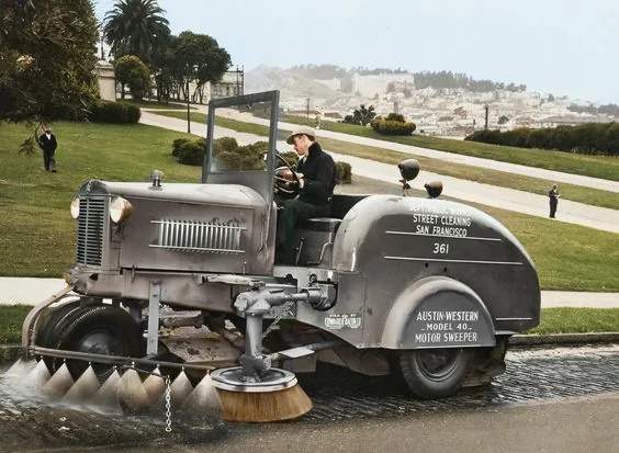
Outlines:
<svg viewBox="0 0 619 453"><path fill-rule="evenodd" d="M196 110L203 113L206 112L205 105L195 104L194 106L196 107ZM218 112L217 114L221 114L223 116L228 116L230 118L244 121L246 123L269 125L268 120L256 117L250 113L241 113L233 109L220 109L217 110L217 112ZM299 127L295 124L284 123L284 122L280 122L278 126L280 129L283 131L292 131L293 128ZM595 188L599 190L619 193L619 181L611 181L600 178L592 178L581 174L565 173L561 171L545 170L541 168L527 167L517 163L502 162L498 160L482 159L479 157L439 151L437 149L420 148L418 146L412 146L412 145L402 145L393 141L379 140L375 138L368 138L368 137L359 137L357 135L342 134L342 133L325 131L325 129L318 129L316 134L318 137L333 138L336 140L349 141L358 145L374 146L384 149L392 149L394 151L406 152L417 156L425 156L434 159L441 159L451 163L463 163L466 166L488 168L492 170L505 171L508 173L527 174L528 177L548 180L549 184L551 182L569 183L569 184L584 185L587 188Z"/></svg>

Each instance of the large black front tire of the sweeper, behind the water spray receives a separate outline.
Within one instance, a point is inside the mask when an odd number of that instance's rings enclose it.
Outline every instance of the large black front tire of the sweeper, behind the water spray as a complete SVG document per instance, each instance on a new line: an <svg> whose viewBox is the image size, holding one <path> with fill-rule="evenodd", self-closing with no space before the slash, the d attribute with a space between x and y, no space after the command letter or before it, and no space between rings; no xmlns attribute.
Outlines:
<svg viewBox="0 0 619 453"><path fill-rule="evenodd" d="M47 348L133 358L142 356L144 351L139 325L124 309L112 305L87 305L68 310L46 330ZM50 372L61 364L61 359L52 360ZM77 380L88 362L68 360L67 366ZM92 363L92 367L100 381L113 372L113 365L109 364Z"/></svg>

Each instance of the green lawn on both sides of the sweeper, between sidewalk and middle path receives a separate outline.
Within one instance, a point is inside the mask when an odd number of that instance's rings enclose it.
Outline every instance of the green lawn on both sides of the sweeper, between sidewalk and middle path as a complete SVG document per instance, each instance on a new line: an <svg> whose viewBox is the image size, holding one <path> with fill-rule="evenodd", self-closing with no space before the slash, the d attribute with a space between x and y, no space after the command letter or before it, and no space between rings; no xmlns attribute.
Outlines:
<svg viewBox="0 0 619 453"><path fill-rule="evenodd" d="M164 183L200 181L200 168L179 165L170 155L172 140L187 134L139 124L59 122L54 128L59 171L47 173L41 155L16 152L30 131L0 124L0 275L60 276L68 270L75 253L69 204L89 178L148 181L158 168ZM480 207L524 244L543 288L619 291L619 235Z"/></svg>

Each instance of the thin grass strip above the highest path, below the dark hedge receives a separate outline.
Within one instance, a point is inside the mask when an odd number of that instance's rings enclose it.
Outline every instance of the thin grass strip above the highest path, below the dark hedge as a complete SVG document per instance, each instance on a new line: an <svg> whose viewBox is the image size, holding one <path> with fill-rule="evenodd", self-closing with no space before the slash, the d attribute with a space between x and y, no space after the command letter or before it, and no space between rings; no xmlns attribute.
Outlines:
<svg viewBox="0 0 619 453"><path fill-rule="evenodd" d="M281 115L280 121L294 124L315 126L314 118L296 115ZM344 134L359 135L379 140L394 141L421 148L437 149L465 156L502 160L529 167L545 168L548 170L564 171L566 173L585 174L587 177L619 181L619 159L605 156L585 156L571 152L553 151L549 149L516 148L513 146L489 145L477 141L454 140L425 135L408 137L391 137L378 134L371 127L354 124L320 122L320 128Z"/></svg>

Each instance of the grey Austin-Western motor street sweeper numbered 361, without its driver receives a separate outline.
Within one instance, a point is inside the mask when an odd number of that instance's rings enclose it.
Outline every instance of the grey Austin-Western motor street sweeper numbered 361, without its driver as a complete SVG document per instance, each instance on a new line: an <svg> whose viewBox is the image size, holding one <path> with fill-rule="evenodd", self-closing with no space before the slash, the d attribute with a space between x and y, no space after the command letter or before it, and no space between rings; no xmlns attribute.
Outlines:
<svg viewBox="0 0 619 453"><path fill-rule="evenodd" d="M317 361L398 374L420 398L505 370L508 338L539 321L533 263L500 223L440 200L440 184L428 197L336 194L330 217L297 226L293 264L275 261L277 197L295 188L282 184L294 172L275 152L278 103L277 91L211 101L200 183L154 171L79 188L76 262L24 321L23 385L138 410L167 383L168 403L269 421L311 409L295 373ZM230 109L267 116L259 152L218 147L216 115ZM394 181L406 191L418 171L403 161Z"/></svg>

